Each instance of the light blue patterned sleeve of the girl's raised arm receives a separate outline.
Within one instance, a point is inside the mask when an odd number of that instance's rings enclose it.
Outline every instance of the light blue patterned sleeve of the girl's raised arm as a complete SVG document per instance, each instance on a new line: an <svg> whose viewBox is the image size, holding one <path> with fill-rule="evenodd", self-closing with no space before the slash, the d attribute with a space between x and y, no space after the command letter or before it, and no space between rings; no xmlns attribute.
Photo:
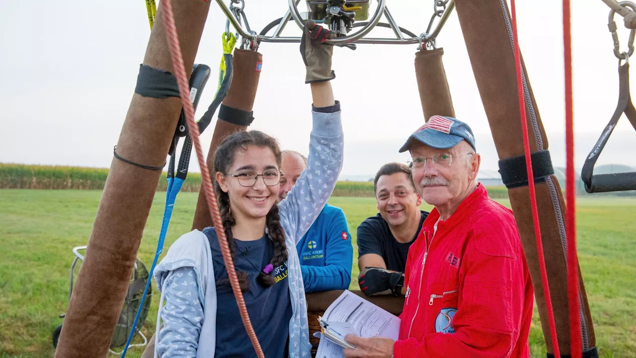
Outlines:
<svg viewBox="0 0 636 358"><path fill-rule="evenodd" d="M339 106L339 105L338 105ZM298 243L327 203L343 160L343 133L340 110L312 111L314 125L309 140L307 168L280 202L280 220L286 234Z"/></svg>

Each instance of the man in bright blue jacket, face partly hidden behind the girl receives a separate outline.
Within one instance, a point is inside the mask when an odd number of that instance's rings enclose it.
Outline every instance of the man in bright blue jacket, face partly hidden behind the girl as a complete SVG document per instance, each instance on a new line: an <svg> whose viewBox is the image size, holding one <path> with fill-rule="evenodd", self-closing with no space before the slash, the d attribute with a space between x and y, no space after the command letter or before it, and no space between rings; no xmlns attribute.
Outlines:
<svg viewBox="0 0 636 358"><path fill-rule="evenodd" d="M282 152L279 202L307 168L307 158L292 150ZM345 290L351 282L353 246L342 209L325 204L320 215L296 245L305 292Z"/></svg>

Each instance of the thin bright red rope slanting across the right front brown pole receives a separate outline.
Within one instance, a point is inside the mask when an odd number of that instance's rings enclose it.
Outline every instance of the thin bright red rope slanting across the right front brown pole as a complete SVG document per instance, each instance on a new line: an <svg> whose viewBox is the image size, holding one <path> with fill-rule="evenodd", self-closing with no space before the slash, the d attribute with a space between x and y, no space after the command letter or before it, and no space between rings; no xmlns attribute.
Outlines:
<svg viewBox="0 0 636 358"><path fill-rule="evenodd" d="M532 223L534 224L534 236L537 242L537 255L539 259L539 269L541 270L541 284L543 294L546 298L546 310L548 310L548 326L550 326L550 337L552 340L552 350L555 357L560 357L558 350L558 340L556 338L555 316L552 310L552 299L550 298L550 287L548 285L548 273L546 273L546 261L543 255L543 241L541 241L541 227L539 227L539 211L537 210L537 197L534 191L534 175L532 173L532 160L530 159L530 139L528 137L528 124L525 117L525 100L523 97L523 79L521 71L521 55L519 54L519 40L516 30L516 10L515 0L510 0L512 10L513 44L515 50L515 67L517 75L517 89L519 92L519 111L521 112L521 129L523 132L523 150L525 152L525 166L528 171L528 187L530 189L530 207L532 208Z"/></svg>

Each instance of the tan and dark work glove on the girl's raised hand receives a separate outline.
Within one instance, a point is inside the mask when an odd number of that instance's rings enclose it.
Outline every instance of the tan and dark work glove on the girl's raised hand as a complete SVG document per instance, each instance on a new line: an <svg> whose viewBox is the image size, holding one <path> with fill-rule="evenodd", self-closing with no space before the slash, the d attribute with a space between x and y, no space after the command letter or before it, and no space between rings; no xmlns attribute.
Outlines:
<svg viewBox="0 0 636 358"><path fill-rule="evenodd" d="M305 22L303 37L300 39L300 54L307 68L305 83L326 82L336 78L336 74L331 71L333 45L324 43L326 39L335 36L335 33L312 20Z"/></svg>

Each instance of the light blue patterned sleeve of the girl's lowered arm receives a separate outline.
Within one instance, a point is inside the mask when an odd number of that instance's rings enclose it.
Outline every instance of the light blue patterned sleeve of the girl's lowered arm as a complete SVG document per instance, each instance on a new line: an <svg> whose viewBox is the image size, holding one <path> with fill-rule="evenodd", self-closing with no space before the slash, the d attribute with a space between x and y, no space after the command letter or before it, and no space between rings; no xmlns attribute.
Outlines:
<svg viewBox="0 0 636 358"><path fill-rule="evenodd" d="M177 268L164 283L165 306L161 311L163 328L156 350L163 358L197 356L203 306L198 297L197 276L191 267Z"/></svg>

